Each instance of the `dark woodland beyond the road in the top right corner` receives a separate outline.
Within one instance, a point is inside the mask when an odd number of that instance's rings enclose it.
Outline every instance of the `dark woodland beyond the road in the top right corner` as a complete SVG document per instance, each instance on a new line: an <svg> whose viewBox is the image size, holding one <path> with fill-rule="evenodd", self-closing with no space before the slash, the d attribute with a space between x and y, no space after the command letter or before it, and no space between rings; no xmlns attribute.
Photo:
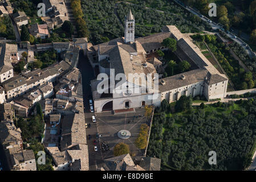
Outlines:
<svg viewBox="0 0 256 182"><path fill-rule="evenodd" d="M181 0L189 6L196 7L202 14L208 16L209 3L217 4L217 17L214 20L224 25L226 30L231 26L241 32L250 34L251 43L256 43L256 0L239 1L209 1L209 0Z"/></svg>

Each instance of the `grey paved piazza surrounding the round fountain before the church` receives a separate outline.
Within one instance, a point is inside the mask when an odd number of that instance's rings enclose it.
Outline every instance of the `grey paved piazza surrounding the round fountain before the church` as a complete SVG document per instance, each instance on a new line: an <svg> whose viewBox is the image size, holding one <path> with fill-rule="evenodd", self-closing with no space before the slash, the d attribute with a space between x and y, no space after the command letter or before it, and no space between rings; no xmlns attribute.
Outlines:
<svg viewBox="0 0 256 182"><path fill-rule="evenodd" d="M135 145L140 126L147 122L147 118L144 117L145 109L136 109L136 113L128 114L115 114L111 112L97 113L97 127L99 133L103 135L101 142L108 142L110 150L102 152L103 159L111 158L113 156L113 147L117 143L123 142L128 144L130 151L136 155L143 155L143 151L139 150ZM141 115L141 117L139 117ZM127 139L121 139L117 136L120 130L127 130L131 133L131 137Z"/></svg>

